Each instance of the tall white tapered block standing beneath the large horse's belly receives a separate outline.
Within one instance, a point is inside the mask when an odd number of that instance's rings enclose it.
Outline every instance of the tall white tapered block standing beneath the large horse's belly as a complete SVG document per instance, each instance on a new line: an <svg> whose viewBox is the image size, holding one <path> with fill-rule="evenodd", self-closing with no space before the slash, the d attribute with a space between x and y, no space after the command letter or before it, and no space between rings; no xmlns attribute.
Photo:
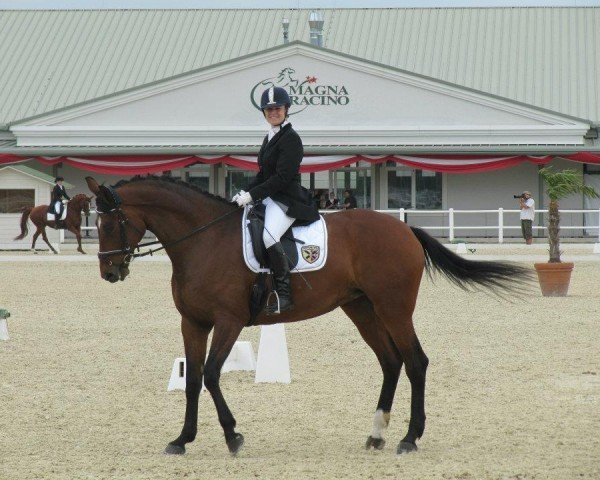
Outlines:
<svg viewBox="0 0 600 480"><path fill-rule="evenodd" d="M290 383L291 381L285 326L282 323L263 325L260 329L254 382Z"/></svg>

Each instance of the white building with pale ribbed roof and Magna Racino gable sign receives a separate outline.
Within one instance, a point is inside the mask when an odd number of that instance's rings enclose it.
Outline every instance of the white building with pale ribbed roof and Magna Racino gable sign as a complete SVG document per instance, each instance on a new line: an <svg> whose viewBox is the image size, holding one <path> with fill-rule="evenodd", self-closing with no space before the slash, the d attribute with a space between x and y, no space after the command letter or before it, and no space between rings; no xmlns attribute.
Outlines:
<svg viewBox="0 0 600 480"><path fill-rule="evenodd" d="M312 36L310 14L0 12L13 39L0 43L0 163L33 158L73 193L90 171L170 171L228 197L253 175L257 99L279 85L305 185L353 189L365 208L516 208L523 190L543 207L539 166L598 178L600 8L332 9L313 12ZM597 216L563 224L584 222Z"/></svg>

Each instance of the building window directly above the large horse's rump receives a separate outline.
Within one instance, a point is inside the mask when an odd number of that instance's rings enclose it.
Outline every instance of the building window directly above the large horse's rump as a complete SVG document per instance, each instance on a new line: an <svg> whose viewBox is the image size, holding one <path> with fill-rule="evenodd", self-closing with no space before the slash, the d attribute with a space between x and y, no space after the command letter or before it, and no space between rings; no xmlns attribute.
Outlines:
<svg viewBox="0 0 600 480"><path fill-rule="evenodd" d="M388 162L387 208L442 208L442 174L428 170L414 170Z"/></svg>

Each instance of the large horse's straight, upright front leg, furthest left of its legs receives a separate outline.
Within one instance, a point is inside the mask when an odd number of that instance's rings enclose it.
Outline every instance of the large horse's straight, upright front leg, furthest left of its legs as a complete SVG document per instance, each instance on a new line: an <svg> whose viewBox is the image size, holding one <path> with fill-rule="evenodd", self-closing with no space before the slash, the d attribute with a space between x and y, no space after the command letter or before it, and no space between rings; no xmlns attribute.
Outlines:
<svg viewBox="0 0 600 480"><path fill-rule="evenodd" d="M181 333L185 346L185 421L177 439L167 445L165 453L181 455L185 444L193 442L198 431L198 397L202 388L202 372L206 358L206 342L210 328L200 326L186 317L181 319Z"/></svg>

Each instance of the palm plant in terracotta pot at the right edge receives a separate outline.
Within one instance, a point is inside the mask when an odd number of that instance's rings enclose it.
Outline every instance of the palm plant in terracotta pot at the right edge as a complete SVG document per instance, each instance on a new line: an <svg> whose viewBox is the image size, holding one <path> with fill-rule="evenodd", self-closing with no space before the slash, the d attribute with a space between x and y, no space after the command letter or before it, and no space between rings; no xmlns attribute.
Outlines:
<svg viewBox="0 0 600 480"><path fill-rule="evenodd" d="M583 177L577 170L557 171L548 166L540 170L540 176L546 186L550 199L548 205L548 245L550 258L547 263L536 263L535 269L540 281L542 295L545 297L564 297L569 290L572 262L560 259L560 214L558 202L569 195L581 193L586 197L600 198L592 187L583 183Z"/></svg>

